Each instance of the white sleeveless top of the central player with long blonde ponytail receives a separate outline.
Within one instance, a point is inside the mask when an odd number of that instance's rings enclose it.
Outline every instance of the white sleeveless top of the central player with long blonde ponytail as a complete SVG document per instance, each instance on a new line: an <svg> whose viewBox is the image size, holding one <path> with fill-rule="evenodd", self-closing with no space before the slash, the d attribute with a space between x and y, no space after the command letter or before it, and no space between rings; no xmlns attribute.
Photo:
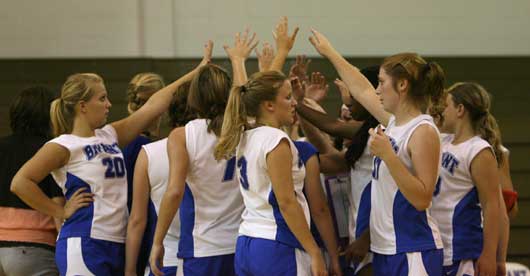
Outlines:
<svg viewBox="0 0 530 276"><path fill-rule="evenodd" d="M245 131L236 150L237 175L245 202L239 234L302 248L280 212L267 173L267 154L275 149L282 139L286 139L291 147L294 192L304 211L307 226L310 225L309 207L303 194L305 167L298 150L285 132L263 126Z"/></svg>

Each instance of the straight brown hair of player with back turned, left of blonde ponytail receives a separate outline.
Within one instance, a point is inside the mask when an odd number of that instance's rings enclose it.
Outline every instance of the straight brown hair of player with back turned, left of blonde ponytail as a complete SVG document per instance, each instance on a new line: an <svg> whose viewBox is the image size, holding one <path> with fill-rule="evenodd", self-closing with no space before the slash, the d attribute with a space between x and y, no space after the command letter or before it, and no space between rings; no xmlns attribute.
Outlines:
<svg viewBox="0 0 530 276"><path fill-rule="evenodd" d="M231 86L228 73L212 63L201 67L190 84L188 106L197 112L199 118L208 119L208 132L215 133L217 137L221 135Z"/></svg>

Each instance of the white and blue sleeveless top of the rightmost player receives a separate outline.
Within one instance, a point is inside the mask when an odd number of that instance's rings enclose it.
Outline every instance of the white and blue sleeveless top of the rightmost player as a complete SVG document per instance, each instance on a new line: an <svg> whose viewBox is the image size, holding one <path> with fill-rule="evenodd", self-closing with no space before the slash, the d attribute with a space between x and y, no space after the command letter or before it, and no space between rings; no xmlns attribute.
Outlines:
<svg viewBox="0 0 530 276"><path fill-rule="evenodd" d="M479 136L453 145L453 136L442 140L442 170L431 212L444 244L444 265L476 260L482 252L482 208L471 177L471 162L490 144Z"/></svg>

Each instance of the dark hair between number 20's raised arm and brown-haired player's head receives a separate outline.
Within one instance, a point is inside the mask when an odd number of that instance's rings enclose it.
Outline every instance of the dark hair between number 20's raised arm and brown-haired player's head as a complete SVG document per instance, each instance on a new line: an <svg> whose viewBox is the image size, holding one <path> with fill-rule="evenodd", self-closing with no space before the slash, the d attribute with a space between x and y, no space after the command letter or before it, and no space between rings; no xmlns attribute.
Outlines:
<svg viewBox="0 0 530 276"><path fill-rule="evenodd" d="M173 94L173 99L168 109L169 126L172 128L184 126L189 121L197 118L187 104L190 84L191 82L183 83Z"/></svg>

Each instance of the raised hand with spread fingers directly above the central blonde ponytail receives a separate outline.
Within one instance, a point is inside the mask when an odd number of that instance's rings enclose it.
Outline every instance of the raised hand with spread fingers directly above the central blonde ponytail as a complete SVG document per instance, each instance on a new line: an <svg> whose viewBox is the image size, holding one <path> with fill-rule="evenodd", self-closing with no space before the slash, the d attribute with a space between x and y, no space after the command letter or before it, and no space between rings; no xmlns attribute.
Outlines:
<svg viewBox="0 0 530 276"><path fill-rule="evenodd" d="M256 38L256 33L253 33L251 37L249 35L249 29L247 28L243 32L243 36L240 33L236 33L234 37L234 46L230 47L224 45L230 62L232 63L232 70L234 75L234 86L241 86L247 82L247 69L245 67L245 61L250 56L250 53L259 43L258 41L254 42Z"/></svg>

